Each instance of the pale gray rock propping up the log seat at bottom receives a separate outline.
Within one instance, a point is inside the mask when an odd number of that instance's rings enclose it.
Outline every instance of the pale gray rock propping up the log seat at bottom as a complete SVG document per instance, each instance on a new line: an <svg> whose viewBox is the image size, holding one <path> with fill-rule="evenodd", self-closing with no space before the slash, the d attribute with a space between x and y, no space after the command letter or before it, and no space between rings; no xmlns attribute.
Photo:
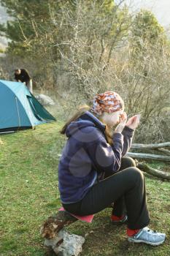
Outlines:
<svg viewBox="0 0 170 256"><path fill-rule="evenodd" d="M85 238L74 234L69 234L66 230L58 232L58 236L53 239L46 239L45 246L51 246L56 255L78 256L82 252L82 244Z"/></svg>

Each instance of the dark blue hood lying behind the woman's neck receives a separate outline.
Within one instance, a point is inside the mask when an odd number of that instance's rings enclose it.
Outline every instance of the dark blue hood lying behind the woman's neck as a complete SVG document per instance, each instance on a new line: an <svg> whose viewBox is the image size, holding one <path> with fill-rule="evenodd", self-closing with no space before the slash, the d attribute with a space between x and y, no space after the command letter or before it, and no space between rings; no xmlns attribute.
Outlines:
<svg viewBox="0 0 170 256"><path fill-rule="evenodd" d="M75 135L75 133L80 132L82 129L85 133L91 132L93 127L100 129L101 132L104 132L105 130L105 125L102 124L101 121L96 118L96 116L93 116L92 113L86 111L85 114L77 119L77 121L72 121L69 124L69 126L66 128L66 137L69 138L72 135Z"/></svg>

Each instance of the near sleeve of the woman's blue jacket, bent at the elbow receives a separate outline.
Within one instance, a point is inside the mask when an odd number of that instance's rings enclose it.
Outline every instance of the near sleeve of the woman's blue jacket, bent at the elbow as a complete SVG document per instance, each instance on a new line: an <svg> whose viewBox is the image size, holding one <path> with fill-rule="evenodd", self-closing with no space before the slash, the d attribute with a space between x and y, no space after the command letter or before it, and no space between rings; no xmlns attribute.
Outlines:
<svg viewBox="0 0 170 256"><path fill-rule="evenodd" d="M113 174L120 168L122 151L123 151L123 135L115 133L113 135L113 146L107 143L104 137L88 145L88 155L95 169L100 172Z"/></svg>

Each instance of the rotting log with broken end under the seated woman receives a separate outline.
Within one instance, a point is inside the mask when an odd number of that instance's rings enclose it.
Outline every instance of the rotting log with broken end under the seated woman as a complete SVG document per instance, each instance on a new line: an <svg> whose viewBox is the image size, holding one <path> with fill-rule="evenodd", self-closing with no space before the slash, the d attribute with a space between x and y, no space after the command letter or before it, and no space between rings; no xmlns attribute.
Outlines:
<svg viewBox="0 0 170 256"><path fill-rule="evenodd" d="M43 238L52 239L58 232L66 226L69 226L73 222L76 222L77 218L73 217L66 211L58 211L54 216L48 217L40 229L40 234Z"/></svg>

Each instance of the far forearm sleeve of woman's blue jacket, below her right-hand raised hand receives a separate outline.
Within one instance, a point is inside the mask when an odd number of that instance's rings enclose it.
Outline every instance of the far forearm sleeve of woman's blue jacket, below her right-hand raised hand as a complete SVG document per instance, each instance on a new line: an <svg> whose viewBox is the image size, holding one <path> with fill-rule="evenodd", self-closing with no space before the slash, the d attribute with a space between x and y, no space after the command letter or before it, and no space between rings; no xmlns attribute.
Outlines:
<svg viewBox="0 0 170 256"><path fill-rule="evenodd" d="M131 143L134 137L134 129L125 127L123 129L122 135L123 135L123 141L124 141L122 156L124 156L131 148Z"/></svg>

